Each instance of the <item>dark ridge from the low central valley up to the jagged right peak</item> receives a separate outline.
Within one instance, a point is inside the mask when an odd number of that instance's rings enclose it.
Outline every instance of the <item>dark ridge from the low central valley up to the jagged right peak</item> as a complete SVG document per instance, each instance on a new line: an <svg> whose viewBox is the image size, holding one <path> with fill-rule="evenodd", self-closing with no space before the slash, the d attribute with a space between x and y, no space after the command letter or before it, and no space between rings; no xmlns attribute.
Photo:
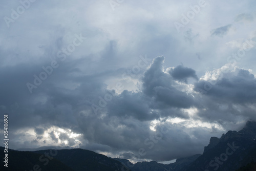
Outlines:
<svg viewBox="0 0 256 171"><path fill-rule="evenodd" d="M230 171L249 166L256 160L256 122L248 121L243 130L228 131L221 138L211 137L202 155L177 159L175 163L161 164L156 161L132 164L129 160L116 159L133 171ZM245 167L247 164L249 166ZM256 170L256 169L255 169Z"/></svg>

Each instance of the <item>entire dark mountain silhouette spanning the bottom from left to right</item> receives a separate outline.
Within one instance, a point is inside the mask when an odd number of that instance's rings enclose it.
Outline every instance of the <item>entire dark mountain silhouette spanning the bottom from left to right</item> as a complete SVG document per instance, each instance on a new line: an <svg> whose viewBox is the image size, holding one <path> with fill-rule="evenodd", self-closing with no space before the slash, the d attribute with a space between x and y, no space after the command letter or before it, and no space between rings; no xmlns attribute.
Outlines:
<svg viewBox="0 0 256 171"><path fill-rule="evenodd" d="M45 148L45 147L44 147ZM4 147L0 147L4 156ZM8 169L30 171L252 171L256 170L256 122L248 121L239 132L228 131L221 138L211 137L202 155L177 159L175 163L156 161L132 164L86 149L46 149L20 152L8 149Z"/></svg>

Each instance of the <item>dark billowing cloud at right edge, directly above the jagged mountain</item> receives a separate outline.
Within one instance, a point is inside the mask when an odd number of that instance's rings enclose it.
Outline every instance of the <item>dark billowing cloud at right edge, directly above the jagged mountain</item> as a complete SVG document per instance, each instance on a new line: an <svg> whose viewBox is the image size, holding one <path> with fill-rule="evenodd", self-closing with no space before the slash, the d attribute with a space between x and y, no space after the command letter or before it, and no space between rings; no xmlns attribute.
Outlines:
<svg viewBox="0 0 256 171"><path fill-rule="evenodd" d="M195 90L204 89L206 82L196 83ZM236 72L227 72L222 78L209 82L207 85L212 87L207 87L208 91L203 92L196 102L200 109L197 116L201 120L218 122L223 127L239 122L240 117L256 120L256 79L253 74L237 69Z"/></svg>

